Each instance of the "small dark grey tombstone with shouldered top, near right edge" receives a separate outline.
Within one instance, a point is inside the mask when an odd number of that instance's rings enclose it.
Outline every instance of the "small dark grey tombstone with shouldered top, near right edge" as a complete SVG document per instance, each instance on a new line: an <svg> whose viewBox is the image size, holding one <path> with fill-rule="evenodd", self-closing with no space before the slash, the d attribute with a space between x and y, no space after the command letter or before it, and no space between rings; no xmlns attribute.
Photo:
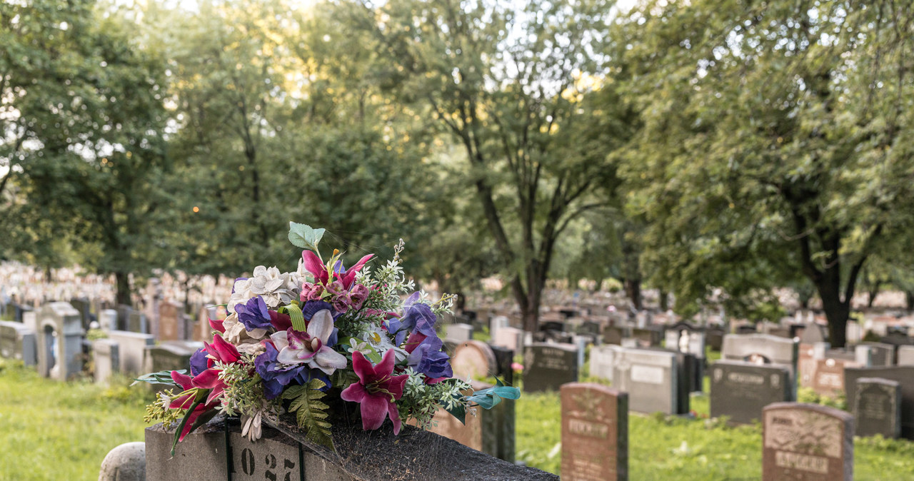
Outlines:
<svg viewBox="0 0 914 481"><path fill-rule="evenodd" d="M887 438L901 435L901 386L881 378L856 380L854 392L856 435L881 434Z"/></svg>

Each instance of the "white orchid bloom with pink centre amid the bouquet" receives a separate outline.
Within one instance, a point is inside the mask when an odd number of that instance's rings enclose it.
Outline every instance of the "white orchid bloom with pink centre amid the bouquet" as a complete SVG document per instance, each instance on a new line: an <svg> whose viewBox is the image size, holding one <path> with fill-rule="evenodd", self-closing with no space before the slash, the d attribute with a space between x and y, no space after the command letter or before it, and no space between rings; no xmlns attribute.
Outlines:
<svg viewBox="0 0 914 481"><path fill-rule="evenodd" d="M316 312L305 332L294 328L276 332L270 336L273 345L280 351L276 361L283 364L307 363L327 374L344 369L345 356L326 345L333 332L334 318L329 309Z"/></svg>

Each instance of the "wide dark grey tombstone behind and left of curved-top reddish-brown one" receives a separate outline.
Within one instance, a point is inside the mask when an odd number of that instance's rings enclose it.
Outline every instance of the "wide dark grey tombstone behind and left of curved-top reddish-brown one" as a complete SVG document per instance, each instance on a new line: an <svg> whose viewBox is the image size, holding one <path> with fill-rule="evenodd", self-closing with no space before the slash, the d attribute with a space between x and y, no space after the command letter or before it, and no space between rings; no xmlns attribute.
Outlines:
<svg viewBox="0 0 914 481"><path fill-rule="evenodd" d="M768 404L792 400L790 372L784 366L717 361L710 377L711 417L728 416L729 423L758 421Z"/></svg>

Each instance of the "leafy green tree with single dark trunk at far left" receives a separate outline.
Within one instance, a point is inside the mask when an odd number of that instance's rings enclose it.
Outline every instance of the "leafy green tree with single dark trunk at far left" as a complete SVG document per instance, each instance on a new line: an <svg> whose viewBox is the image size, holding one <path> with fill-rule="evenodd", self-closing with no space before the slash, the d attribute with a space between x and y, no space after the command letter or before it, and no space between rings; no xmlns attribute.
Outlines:
<svg viewBox="0 0 914 481"><path fill-rule="evenodd" d="M41 238L26 251L40 263L48 243L70 235L96 246L94 266L115 275L118 301L129 303L128 275L152 262L148 219L167 169L163 62L129 35L128 19L93 2L2 8L0 157L10 169L0 187L16 183L19 219L37 219Z"/></svg>

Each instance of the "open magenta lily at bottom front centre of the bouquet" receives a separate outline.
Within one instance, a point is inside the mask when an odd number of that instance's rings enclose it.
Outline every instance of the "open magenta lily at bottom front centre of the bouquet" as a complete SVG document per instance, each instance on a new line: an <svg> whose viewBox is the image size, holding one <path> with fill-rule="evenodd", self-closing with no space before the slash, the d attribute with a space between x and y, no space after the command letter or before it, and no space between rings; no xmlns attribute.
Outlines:
<svg viewBox="0 0 914 481"><path fill-rule="evenodd" d="M389 416L394 423L394 434L399 434L400 419L395 401L403 397L403 384L409 376L391 375L394 371L393 350L385 352L377 366L373 366L371 361L356 350L352 353L352 369L356 371L358 382L349 384L349 387L340 392L340 397L344 401L359 403L362 429L375 430Z"/></svg>

